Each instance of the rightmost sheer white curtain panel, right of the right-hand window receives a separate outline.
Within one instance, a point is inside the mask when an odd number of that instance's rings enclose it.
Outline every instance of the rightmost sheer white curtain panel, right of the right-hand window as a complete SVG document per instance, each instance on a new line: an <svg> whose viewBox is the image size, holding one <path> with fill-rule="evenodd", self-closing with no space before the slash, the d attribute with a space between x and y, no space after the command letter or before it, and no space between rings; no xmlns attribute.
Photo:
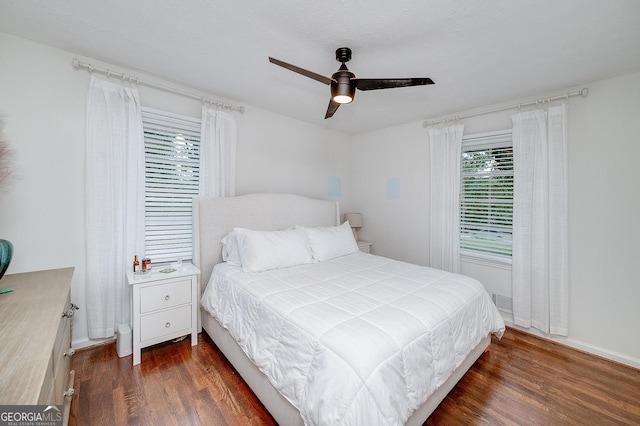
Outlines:
<svg viewBox="0 0 640 426"><path fill-rule="evenodd" d="M513 319L568 335L566 105L514 114Z"/></svg>

